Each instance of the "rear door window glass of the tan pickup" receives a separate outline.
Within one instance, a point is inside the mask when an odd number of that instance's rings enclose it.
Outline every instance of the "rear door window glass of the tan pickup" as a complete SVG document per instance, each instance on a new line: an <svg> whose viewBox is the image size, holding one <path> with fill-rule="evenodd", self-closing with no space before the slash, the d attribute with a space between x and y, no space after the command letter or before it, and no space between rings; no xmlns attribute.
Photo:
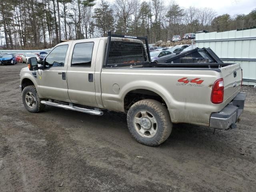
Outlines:
<svg viewBox="0 0 256 192"><path fill-rule="evenodd" d="M91 67L93 45L94 42L75 44L71 67Z"/></svg>

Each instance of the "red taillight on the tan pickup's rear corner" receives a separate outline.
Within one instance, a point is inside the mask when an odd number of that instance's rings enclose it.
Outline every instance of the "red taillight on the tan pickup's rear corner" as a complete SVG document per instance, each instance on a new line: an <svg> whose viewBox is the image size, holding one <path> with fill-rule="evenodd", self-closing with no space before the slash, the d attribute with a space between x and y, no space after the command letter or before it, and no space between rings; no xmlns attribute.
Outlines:
<svg viewBox="0 0 256 192"><path fill-rule="evenodd" d="M220 104L223 102L223 97L224 97L224 81L221 78L216 80L213 84L211 101L214 104Z"/></svg>

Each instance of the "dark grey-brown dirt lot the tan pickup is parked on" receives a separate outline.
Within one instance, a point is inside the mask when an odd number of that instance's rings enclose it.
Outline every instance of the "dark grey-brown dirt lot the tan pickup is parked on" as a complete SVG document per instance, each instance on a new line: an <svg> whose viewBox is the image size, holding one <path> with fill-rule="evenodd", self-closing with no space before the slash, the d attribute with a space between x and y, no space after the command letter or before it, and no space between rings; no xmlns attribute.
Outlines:
<svg viewBox="0 0 256 192"><path fill-rule="evenodd" d="M148 147L121 113L27 112L18 89L24 66L0 66L1 192L256 191L256 88L243 87L236 129L174 125L164 144Z"/></svg>

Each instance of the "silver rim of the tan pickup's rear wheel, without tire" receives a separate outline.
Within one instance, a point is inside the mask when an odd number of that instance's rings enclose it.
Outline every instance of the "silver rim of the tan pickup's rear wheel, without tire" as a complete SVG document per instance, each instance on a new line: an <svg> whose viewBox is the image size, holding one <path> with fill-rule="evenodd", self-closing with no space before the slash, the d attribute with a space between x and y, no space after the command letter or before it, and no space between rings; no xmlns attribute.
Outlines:
<svg viewBox="0 0 256 192"><path fill-rule="evenodd" d="M156 118L148 111L139 111L134 116L134 127L144 138L153 137L157 132Z"/></svg>

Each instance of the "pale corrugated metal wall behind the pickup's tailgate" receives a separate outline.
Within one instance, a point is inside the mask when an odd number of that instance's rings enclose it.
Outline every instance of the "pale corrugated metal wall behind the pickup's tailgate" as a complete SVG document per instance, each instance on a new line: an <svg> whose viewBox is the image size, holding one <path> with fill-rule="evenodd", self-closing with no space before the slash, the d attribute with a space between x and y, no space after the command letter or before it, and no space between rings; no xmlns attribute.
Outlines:
<svg viewBox="0 0 256 192"><path fill-rule="evenodd" d="M243 84L256 86L256 29L196 34L196 46L210 47L227 63L240 63Z"/></svg>

